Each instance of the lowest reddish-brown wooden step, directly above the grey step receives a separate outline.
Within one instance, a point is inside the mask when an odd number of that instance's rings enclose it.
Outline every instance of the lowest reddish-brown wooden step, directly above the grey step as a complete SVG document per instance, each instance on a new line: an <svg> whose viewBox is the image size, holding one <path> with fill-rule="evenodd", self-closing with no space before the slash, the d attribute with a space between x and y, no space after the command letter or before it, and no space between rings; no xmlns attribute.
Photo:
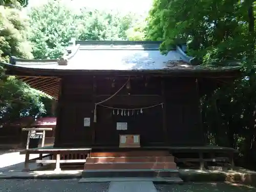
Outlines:
<svg viewBox="0 0 256 192"><path fill-rule="evenodd" d="M175 162L135 162L135 163L85 163L88 169L176 169Z"/></svg>

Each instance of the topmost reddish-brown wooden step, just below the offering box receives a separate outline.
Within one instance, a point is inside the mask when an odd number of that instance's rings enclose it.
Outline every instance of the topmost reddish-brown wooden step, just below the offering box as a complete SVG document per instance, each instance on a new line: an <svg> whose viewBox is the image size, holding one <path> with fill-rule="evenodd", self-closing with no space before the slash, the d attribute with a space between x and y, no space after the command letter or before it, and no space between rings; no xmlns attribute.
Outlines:
<svg viewBox="0 0 256 192"><path fill-rule="evenodd" d="M159 157L169 156L168 151L92 152L91 157Z"/></svg>

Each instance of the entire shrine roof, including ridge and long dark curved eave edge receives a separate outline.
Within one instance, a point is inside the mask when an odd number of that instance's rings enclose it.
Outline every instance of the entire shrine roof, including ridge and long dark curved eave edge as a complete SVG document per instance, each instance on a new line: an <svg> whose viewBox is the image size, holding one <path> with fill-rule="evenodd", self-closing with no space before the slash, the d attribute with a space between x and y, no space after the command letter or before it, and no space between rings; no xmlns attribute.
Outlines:
<svg viewBox="0 0 256 192"><path fill-rule="evenodd" d="M177 46L167 54L159 51L161 41L73 41L60 59L20 59L4 63L8 74L62 76L97 74L190 74L237 71L240 66L203 67L196 58Z"/></svg>

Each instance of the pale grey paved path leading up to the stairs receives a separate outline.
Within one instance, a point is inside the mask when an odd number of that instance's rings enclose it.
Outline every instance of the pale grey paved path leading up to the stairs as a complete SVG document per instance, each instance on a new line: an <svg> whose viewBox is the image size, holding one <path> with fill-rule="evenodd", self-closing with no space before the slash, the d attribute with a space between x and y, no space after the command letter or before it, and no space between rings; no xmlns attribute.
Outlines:
<svg viewBox="0 0 256 192"><path fill-rule="evenodd" d="M157 192L152 181L113 181L108 192Z"/></svg>

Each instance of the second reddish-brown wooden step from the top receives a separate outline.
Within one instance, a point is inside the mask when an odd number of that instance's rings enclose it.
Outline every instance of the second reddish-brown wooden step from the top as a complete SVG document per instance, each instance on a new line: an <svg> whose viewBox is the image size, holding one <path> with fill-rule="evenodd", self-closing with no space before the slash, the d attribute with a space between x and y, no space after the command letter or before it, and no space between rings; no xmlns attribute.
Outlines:
<svg viewBox="0 0 256 192"><path fill-rule="evenodd" d="M160 157L88 157L86 163L135 163L135 162L174 162L173 156Z"/></svg>

